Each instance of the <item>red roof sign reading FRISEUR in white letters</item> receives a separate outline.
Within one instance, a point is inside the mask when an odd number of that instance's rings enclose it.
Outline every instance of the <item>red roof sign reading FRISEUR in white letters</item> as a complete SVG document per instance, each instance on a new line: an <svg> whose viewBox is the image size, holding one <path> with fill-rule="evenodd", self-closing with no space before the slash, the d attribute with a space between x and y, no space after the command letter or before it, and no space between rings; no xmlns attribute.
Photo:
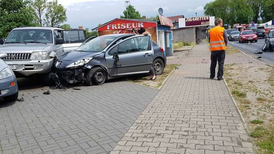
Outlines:
<svg viewBox="0 0 274 154"><path fill-rule="evenodd" d="M138 21L138 20L121 20L117 19L114 20L102 27L98 28L98 31L105 31L105 30L123 30L123 29L138 29L138 28L150 28L156 27L156 22L146 22L146 21Z"/></svg>

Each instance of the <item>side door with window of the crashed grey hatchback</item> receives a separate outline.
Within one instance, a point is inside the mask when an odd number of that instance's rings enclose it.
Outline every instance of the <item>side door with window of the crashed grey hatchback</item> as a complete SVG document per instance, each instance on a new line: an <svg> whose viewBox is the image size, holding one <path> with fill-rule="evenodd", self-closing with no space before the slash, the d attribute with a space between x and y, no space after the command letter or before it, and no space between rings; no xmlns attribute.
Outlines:
<svg viewBox="0 0 274 154"><path fill-rule="evenodd" d="M112 76L148 73L153 62L151 36L132 36L106 52L107 67Z"/></svg>

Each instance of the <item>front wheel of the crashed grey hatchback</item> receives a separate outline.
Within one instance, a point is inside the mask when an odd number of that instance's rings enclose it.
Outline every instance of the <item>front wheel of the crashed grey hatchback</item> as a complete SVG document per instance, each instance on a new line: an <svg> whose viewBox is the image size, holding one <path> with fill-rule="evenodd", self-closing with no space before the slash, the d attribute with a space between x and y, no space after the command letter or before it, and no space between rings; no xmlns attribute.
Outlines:
<svg viewBox="0 0 274 154"><path fill-rule="evenodd" d="M86 76L86 85L102 85L106 81L106 72L101 67L95 67L88 71Z"/></svg>

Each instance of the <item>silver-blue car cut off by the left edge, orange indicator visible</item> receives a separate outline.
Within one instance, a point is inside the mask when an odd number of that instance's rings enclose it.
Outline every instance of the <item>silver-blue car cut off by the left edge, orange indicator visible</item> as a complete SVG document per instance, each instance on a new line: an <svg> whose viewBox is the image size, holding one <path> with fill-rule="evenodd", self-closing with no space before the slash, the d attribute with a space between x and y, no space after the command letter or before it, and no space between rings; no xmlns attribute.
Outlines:
<svg viewBox="0 0 274 154"><path fill-rule="evenodd" d="M5 53L0 53L0 97L11 102L18 97L18 86L12 69L2 60L7 56Z"/></svg>

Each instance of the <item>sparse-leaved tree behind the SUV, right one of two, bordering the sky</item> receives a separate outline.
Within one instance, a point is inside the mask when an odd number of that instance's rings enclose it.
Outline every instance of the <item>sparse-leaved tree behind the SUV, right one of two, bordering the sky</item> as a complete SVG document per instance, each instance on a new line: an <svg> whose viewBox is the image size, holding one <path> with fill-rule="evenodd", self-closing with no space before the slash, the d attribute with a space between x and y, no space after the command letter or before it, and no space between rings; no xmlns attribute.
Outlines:
<svg viewBox="0 0 274 154"><path fill-rule="evenodd" d="M57 0L50 1L47 4L47 10L45 13L45 25L53 27L66 21L66 9L58 4Z"/></svg>

